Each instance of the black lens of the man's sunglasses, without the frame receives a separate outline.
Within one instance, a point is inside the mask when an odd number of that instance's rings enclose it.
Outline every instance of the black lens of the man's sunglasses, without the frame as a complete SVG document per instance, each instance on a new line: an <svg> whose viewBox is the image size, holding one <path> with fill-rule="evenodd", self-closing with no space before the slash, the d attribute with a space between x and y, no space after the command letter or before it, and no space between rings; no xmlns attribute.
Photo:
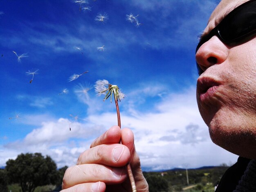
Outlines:
<svg viewBox="0 0 256 192"><path fill-rule="evenodd" d="M238 7L220 23L218 32L225 43L235 42L256 30L256 1Z"/></svg>

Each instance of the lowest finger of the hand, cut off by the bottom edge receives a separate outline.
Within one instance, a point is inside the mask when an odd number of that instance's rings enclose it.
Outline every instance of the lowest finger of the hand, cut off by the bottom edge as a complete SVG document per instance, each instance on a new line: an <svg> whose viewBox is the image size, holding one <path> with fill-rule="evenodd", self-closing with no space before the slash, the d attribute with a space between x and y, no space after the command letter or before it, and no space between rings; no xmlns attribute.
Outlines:
<svg viewBox="0 0 256 192"><path fill-rule="evenodd" d="M81 183L73 187L63 189L61 192L104 192L106 190L106 184L99 181L96 183Z"/></svg>

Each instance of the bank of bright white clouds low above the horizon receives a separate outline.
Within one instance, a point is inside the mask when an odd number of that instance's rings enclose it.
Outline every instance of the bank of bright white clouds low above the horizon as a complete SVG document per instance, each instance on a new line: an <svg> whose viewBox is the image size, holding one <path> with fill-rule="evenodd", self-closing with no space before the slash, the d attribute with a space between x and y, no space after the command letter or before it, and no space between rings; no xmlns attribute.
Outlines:
<svg viewBox="0 0 256 192"><path fill-rule="evenodd" d="M198 112L193 87L181 94L166 95L150 112L135 112L137 116L130 116L122 110L121 122L122 127L130 127L135 134L142 167L168 169L185 163L200 167L229 164L237 158L211 142ZM24 139L4 145L0 163L3 165L20 152L41 152L50 155L58 167L73 165L79 154L116 121L116 112L94 113L85 121L73 122L71 131L68 119L44 121Z"/></svg>

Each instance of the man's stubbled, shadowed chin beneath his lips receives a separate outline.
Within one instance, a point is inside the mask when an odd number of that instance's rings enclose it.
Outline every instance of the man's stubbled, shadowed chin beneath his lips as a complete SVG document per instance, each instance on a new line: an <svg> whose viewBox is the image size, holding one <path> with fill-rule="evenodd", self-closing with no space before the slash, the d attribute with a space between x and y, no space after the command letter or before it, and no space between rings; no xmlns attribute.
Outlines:
<svg viewBox="0 0 256 192"><path fill-rule="evenodd" d="M213 143L238 156L256 159L256 122L252 118L219 110L207 125Z"/></svg>

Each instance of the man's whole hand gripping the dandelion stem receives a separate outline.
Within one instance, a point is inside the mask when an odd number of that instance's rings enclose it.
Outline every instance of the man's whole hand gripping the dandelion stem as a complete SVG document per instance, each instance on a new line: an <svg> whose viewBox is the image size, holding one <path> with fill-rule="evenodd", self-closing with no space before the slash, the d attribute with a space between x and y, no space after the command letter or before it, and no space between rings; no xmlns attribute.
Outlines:
<svg viewBox="0 0 256 192"><path fill-rule="evenodd" d="M76 165L66 170L61 192L131 192L128 162L137 192L148 192L132 131L113 126L80 154Z"/></svg>

